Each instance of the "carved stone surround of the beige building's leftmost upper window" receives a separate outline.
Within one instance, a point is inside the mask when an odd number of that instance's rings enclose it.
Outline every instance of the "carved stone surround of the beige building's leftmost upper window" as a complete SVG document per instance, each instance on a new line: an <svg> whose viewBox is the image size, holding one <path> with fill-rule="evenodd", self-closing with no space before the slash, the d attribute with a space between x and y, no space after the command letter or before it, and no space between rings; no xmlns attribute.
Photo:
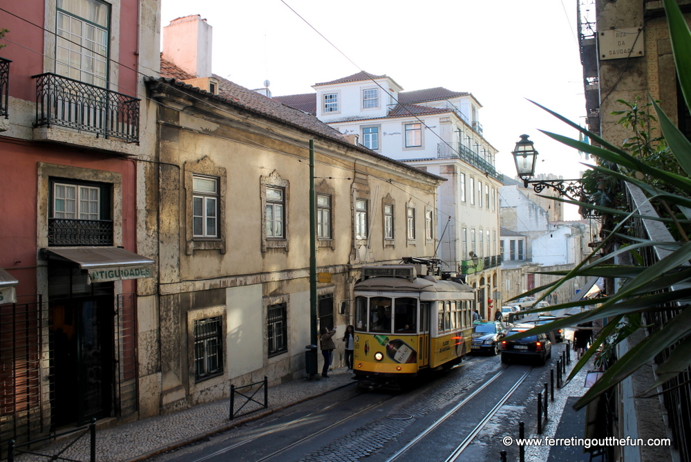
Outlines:
<svg viewBox="0 0 691 462"><path fill-rule="evenodd" d="M185 162L184 166L184 192L185 192L185 254L192 255L196 250L219 250L220 253L225 254L226 249L226 219L225 219L225 201L226 201L226 185L227 173L223 167L218 167L209 156L204 156L196 162ZM217 205L217 219L216 219L216 236L195 235L194 217L195 212L195 197L202 197L202 194L195 192L194 178L208 178L216 180L218 195L216 195ZM209 195L209 197L211 197ZM197 200L198 205L198 200Z"/></svg>

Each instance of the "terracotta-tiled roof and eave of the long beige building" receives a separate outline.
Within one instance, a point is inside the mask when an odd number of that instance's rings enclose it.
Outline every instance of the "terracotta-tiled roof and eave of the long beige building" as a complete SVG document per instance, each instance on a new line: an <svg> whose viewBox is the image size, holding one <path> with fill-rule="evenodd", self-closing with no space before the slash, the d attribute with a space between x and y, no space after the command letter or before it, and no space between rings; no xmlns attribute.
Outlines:
<svg viewBox="0 0 691 462"><path fill-rule="evenodd" d="M305 130L309 133L322 136L323 138L328 138L329 140L337 142L341 145L347 145L349 147L352 147L353 149L357 149L358 151L363 152L364 154L368 154L373 158L384 160L386 161L386 163L402 166L408 171L415 171L419 174L422 174L428 178L433 178L437 181L446 181L446 178L443 178L442 176L430 174L428 172L423 172L422 170L416 169L415 167L402 163L399 160L382 156L381 154L372 151L371 149L368 149L363 145L353 145L352 142L345 140L345 138L343 138L343 135L337 129L334 129L328 126L327 124L321 122L321 120L314 117L314 115L287 106L286 104L283 104L282 102L277 100L273 100L272 98L267 98L265 95L262 95L261 93L257 93L256 91L246 89L244 86L240 86L234 82L231 82L230 80L225 79L224 77L220 77L220 75L214 74L214 77L218 80L218 95L214 95L213 93L209 93L208 91L198 89L189 84L185 84L184 82L180 82L179 76L181 75L189 76L189 74L182 71L182 69L178 68L175 64L161 58L161 77L147 77L146 80L149 82L156 81L162 82L164 84L172 84L187 91L196 91L196 93L205 95L208 98L220 100L227 104L231 104L232 106L240 107L247 111L258 113L278 122L289 124L292 127L296 127L297 129ZM194 77L189 76L189 78Z"/></svg>

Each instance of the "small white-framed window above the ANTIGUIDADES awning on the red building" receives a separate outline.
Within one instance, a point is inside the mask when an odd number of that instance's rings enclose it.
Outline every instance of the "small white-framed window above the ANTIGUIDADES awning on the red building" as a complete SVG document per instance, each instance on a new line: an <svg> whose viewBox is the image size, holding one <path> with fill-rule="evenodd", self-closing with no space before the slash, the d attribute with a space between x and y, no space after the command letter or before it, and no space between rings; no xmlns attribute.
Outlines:
<svg viewBox="0 0 691 462"><path fill-rule="evenodd" d="M86 185L53 185L53 218L100 219L101 188Z"/></svg>

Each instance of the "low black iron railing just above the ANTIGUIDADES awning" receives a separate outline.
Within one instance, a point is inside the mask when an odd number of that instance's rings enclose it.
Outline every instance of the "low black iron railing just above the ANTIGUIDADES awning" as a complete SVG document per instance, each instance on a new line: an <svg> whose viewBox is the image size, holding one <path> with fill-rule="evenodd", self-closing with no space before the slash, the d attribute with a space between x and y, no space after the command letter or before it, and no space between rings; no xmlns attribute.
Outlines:
<svg viewBox="0 0 691 462"><path fill-rule="evenodd" d="M112 246L113 221L48 219L48 246Z"/></svg>

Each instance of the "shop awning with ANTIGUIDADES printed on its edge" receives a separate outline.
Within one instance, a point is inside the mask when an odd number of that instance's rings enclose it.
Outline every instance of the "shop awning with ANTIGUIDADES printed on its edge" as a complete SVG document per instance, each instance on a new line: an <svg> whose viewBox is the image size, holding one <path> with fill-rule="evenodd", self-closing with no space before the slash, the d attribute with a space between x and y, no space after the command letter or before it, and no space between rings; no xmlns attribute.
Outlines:
<svg viewBox="0 0 691 462"><path fill-rule="evenodd" d="M88 270L91 282L118 281L153 277L153 260L117 247L47 249L48 257L57 255Z"/></svg>

